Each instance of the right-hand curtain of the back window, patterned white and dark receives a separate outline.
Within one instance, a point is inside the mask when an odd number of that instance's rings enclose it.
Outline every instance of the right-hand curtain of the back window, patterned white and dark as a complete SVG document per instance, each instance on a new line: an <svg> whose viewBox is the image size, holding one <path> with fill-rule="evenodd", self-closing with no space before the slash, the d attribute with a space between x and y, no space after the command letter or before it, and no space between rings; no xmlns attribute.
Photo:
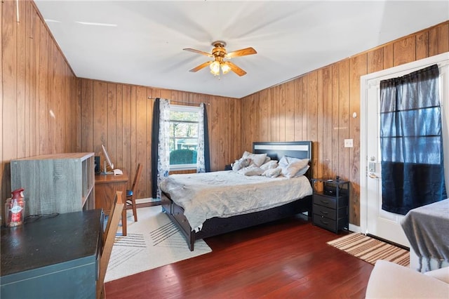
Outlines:
<svg viewBox="0 0 449 299"><path fill-rule="evenodd" d="M198 148L196 150L196 172L210 172L208 114L206 106L201 103L198 119Z"/></svg>

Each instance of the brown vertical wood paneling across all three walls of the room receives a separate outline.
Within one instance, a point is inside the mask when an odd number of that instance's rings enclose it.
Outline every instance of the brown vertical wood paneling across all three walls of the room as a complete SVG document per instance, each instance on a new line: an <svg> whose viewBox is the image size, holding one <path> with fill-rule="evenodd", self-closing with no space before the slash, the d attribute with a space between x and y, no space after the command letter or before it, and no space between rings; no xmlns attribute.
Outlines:
<svg viewBox="0 0 449 299"><path fill-rule="evenodd" d="M32 1L1 2L1 199L10 195L11 159L95 152L105 144L133 178L144 164L138 197L151 191L153 100L206 102L214 171L252 150L254 141L314 141L316 175L352 182L350 222L360 223L360 76L449 51L449 21L303 74L242 99L77 79ZM352 138L354 147L343 147ZM1 205L3 206L3 205Z"/></svg>

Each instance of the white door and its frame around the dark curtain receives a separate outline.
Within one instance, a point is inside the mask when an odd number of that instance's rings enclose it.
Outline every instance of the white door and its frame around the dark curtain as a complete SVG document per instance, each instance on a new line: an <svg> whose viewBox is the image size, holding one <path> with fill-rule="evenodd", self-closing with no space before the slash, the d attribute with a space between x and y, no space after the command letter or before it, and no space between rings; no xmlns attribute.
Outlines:
<svg viewBox="0 0 449 299"><path fill-rule="evenodd" d="M414 72L438 63L440 67L443 140L449 140L449 52L384 69L361 77L361 232L408 246L401 228L404 217L382 210L382 178L380 157L380 81ZM445 181L449 186L449 142L443 141Z"/></svg>

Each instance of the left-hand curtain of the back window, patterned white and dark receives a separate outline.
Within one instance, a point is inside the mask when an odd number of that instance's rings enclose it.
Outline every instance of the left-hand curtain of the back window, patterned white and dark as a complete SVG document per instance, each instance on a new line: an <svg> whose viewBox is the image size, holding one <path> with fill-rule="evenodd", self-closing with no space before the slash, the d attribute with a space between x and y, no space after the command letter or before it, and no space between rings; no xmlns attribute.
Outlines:
<svg viewBox="0 0 449 299"><path fill-rule="evenodd" d="M161 198L159 184L170 171L169 129L170 102L156 98L153 106L152 128L152 197Z"/></svg>

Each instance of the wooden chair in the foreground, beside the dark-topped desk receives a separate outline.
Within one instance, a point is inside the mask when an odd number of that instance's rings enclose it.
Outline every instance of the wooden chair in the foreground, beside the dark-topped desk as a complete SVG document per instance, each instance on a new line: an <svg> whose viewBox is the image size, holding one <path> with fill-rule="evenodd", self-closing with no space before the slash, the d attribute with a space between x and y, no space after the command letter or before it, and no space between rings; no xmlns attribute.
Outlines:
<svg viewBox="0 0 449 299"><path fill-rule="evenodd" d="M107 265L109 264L109 258L111 257L112 246L114 245L114 239L116 232L119 228L120 216L123 211L123 201L121 198L121 191L116 191L114 197L114 203L109 213L105 232L103 232L103 246L100 256L100 272L97 280L97 299L105 298L105 276Z"/></svg>

